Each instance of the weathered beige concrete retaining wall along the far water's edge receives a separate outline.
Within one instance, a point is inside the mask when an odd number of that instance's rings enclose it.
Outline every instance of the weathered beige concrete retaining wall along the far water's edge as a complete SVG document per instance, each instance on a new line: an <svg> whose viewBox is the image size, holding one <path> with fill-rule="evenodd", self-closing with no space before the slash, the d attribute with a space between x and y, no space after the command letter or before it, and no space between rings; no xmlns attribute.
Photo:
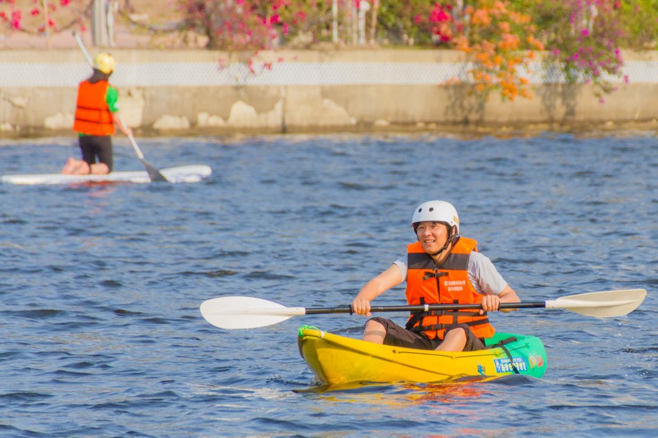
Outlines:
<svg viewBox="0 0 658 438"><path fill-rule="evenodd" d="M603 103L539 63L532 100L478 102L465 86L441 85L468 71L454 51L281 51L259 55L254 71L221 52L112 54L123 118L141 135L658 128L655 52L625 53L629 82L612 78L618 89ZM70 134L88 75L77 49L0 51L0 136Z"/></svg>

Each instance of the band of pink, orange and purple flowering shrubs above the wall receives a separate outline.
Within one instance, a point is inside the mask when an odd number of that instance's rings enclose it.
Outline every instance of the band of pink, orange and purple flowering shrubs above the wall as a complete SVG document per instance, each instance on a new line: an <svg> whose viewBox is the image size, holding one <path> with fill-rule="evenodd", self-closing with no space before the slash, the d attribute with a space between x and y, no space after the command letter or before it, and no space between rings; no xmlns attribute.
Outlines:
<svg viewBox="0 0 658 438"><path fill-rule="evenodd" d="M0 1L4 33L48 35L87 30L91 0ZM655 48L658 0L172 0L175 25L157 28L132 17L151 14L147 0L110 1L106 14L152 33L197 33L206 47L255 53L317 44L457 48L467 54L472 85L486 98L529 98L535 51L571 83L591 82L602 96L622 75L621 48ZM157 11L162 15L162 11ZM112 20L114 22L114 20ZM244 61L251 67L251 56ZM546 69L551 70L551 69ZM626 79L626 78L625 78Z"/></svg>

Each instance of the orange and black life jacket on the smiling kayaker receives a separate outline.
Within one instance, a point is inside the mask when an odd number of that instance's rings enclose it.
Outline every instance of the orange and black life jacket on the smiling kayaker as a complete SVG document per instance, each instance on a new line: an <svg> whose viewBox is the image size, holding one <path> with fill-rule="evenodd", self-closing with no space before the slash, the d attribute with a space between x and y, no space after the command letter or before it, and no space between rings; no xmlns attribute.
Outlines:
<svg viewBox="0 0 658 438"><path fill-rule="evenodd" d="M473 251L477 251L477 241L459 237L445 262L434 266L420 242L407 246L407 302L411 305L482 302L482 295L468 280L468 259ZM490 338L495 333L487 313L480 315L479 311L411 313L407 329L424 331L430 339L437 336L443 339L445 328L458 322L468 325L478 338Z"/></svg>

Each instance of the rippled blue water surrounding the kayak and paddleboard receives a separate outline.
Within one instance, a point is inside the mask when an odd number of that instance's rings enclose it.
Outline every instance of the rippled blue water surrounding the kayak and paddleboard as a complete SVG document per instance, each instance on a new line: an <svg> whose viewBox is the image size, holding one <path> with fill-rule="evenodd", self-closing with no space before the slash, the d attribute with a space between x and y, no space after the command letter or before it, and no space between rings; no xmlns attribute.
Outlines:
<svg viewBox="0 0 658 438"><path fill-rule="evenodd" d="M125 138L116 169L141 170ZM140 141L193 184L0 185L0 435L8 437L649 437L658 428L658 140L258 136ZM70 138L3 140L0 174L57 172ZM348 304L452 201L522 300L648 290L598 319L492 315L540 336L542 379L313 390L296 329L358 337L364 318L209 325L248 295ZM403 304L403 289L377 304ZM402 322L404 315L389 317ZM298 390L303 390L299 392Z"/></svg>

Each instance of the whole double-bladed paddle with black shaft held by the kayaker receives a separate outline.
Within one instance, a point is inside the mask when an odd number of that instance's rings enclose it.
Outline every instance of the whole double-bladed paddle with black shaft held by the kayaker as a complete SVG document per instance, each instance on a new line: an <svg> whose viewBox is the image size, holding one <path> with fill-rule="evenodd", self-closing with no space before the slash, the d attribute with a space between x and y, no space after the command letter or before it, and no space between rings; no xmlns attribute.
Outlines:
<svg viewBox="0 0 658 438"><path fill-rule="evenodd" d="M501 302L499 309L564 309L586 316L624 316L637 309L645 297L644 289L622 289L579 293L541 302ZM480 304L424 304L371 307L371 311L414 312L480 308ZM220 329L255 329L285 321L293 316L319 313L352 313L352 307L285 307L276 302L242 296L213 298L201 304L201 314L206 321Z"/></svg>

